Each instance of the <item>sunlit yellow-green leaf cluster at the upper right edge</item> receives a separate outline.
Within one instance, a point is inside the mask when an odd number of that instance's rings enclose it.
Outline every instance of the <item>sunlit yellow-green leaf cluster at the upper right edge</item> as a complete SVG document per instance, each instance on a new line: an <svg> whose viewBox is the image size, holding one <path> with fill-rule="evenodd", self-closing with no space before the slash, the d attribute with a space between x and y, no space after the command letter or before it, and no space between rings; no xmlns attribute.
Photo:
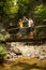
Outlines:
<svg viewBox="0 0 46 70"><path fill-rule="evenodd" d="M39 14L42 18L46 18L46 5L39 5L35 8L35 13Z"/></svg>

